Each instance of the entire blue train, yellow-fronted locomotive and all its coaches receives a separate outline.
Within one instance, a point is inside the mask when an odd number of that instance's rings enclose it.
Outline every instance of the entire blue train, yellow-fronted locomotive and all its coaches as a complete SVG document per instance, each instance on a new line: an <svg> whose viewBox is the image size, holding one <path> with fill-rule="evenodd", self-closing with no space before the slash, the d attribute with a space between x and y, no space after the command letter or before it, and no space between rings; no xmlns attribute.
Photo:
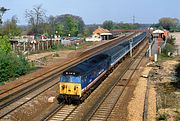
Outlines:
<svg viewBox="0 0 180 121"><path fill-rule="evenodd" d="M130 51L130 41L132 48L137 46L146 37L146 32L134 37L107 50L95 55L80 64L71 67L60 75L58 100L70 103L72 100L80 100L111 67Z"/></svg>

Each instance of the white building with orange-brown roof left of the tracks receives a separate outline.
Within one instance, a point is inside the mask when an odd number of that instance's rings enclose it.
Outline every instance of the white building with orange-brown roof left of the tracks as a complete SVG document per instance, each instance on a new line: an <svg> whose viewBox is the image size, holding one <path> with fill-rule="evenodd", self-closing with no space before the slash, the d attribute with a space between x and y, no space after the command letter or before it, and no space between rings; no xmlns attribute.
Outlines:
<svg viewBox="0 0 180 121"><path fill-rule="evenodd" d="M109 30L99 27L93 32L92 37L86 38L86 41L110 40L111 38L112 33Z"/></svg>

